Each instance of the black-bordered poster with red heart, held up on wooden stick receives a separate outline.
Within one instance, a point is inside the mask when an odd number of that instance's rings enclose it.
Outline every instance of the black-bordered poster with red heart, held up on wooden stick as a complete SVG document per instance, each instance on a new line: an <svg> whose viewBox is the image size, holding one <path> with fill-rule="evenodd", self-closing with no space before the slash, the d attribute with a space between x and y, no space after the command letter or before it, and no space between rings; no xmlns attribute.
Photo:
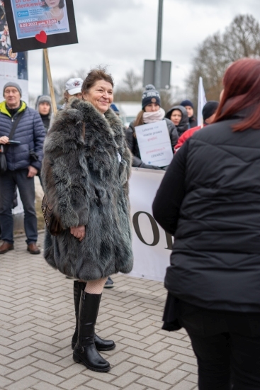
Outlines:
<svg viewBox="0 0 260 390"><path fill-rule="evenodd" d="M5 2L13 51L78 43L72 0Z"/></svg>

